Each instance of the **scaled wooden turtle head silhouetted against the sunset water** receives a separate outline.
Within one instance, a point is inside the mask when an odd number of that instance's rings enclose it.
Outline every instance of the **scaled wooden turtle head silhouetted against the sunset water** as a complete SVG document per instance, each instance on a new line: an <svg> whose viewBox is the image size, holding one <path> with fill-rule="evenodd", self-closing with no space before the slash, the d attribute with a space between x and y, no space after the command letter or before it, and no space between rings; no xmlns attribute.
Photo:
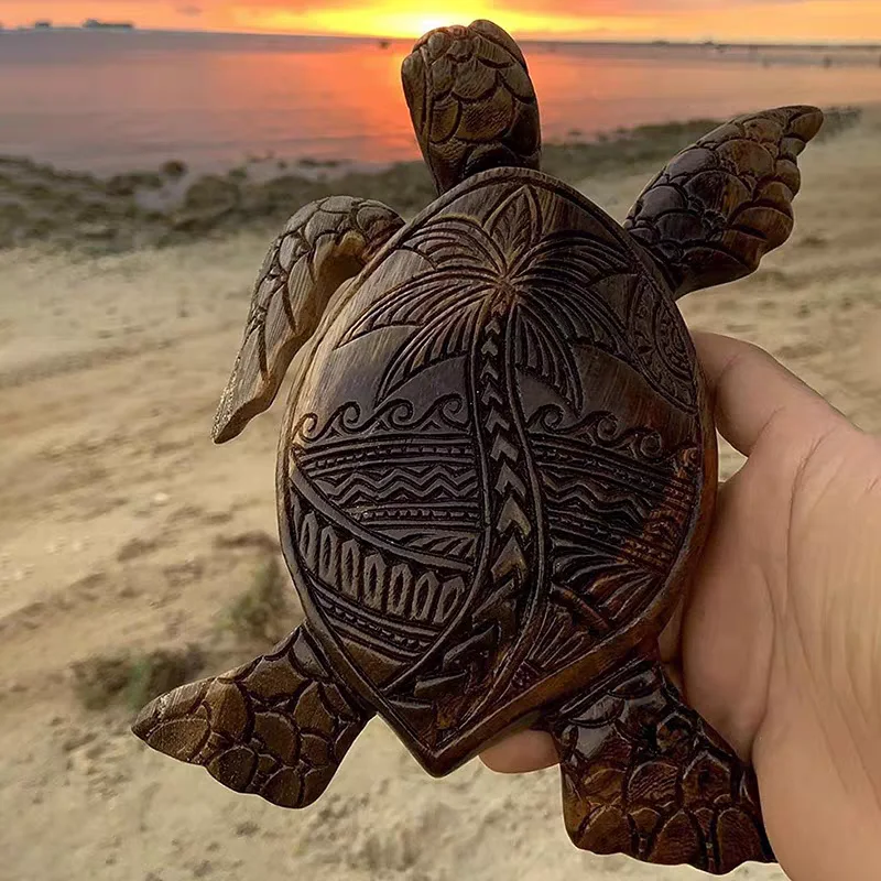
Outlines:
<svg viewBox="0 0 881 881"><path fill-rule="evenodd" d="M431 31L404 59L401 76L438 193L487 168L539 167L535 90L523 53L497 24Z"/></svg>

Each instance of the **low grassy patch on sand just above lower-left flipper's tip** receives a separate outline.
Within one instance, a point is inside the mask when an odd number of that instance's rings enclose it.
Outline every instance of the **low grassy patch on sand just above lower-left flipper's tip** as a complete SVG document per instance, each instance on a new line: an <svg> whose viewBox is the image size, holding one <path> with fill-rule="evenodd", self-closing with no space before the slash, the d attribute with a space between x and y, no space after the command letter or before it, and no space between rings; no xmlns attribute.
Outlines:
<svg viewBox="0 0 881 881"><path fill-rule="evenodd" d="M86 709L121 705L137 713L154 697L193 682L204 667L205 655L195 645L96 655L74 665L74 692Z"/></svg>

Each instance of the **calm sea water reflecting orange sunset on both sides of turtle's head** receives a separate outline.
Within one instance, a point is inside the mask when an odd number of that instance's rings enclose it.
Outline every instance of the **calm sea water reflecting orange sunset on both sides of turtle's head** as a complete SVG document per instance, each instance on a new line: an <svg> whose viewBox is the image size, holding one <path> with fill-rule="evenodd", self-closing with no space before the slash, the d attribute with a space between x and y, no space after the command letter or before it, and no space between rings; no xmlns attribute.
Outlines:
<svg viewBox="0 0 881 881"><path fill-rule="evenodd" d="M155 32L0 33L0 154L111 173L181 159L418 156L410 42ZM524 44L547 140L782 104L881 101L881 52Z"/></svg>

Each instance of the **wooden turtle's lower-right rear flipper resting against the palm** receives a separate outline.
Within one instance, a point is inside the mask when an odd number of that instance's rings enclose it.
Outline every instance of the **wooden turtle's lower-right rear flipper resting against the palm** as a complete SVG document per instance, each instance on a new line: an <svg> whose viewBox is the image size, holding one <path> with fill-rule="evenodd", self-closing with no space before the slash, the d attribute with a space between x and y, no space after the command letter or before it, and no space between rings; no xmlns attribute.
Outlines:
<svg viewBox="0 0 881 881"><path fill-rule="evenodd" d="M755 774L686 706L655 657L634 657L547 718L573 842L725 874L774 862Z"/></svg>

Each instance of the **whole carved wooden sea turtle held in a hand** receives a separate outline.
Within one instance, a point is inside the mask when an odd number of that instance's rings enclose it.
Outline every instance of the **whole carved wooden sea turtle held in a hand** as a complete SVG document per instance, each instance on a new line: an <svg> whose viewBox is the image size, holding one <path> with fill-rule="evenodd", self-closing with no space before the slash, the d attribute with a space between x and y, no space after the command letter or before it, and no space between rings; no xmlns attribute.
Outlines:
<svg viewBox="0 0 881 881"><path fill-rule="evenodd" d="M409 222L348 196L293 216L214 425L237 436L296 356L276 486L305 623L134 731L303 807L374 714L436 776L542 728L578 847L773 861L754 772L659 659L717 486L674 301L788 238L823 115L722 126L621 227L539 170L535 93L497 25L433 31L403 86L438 198Z"/></svg>

